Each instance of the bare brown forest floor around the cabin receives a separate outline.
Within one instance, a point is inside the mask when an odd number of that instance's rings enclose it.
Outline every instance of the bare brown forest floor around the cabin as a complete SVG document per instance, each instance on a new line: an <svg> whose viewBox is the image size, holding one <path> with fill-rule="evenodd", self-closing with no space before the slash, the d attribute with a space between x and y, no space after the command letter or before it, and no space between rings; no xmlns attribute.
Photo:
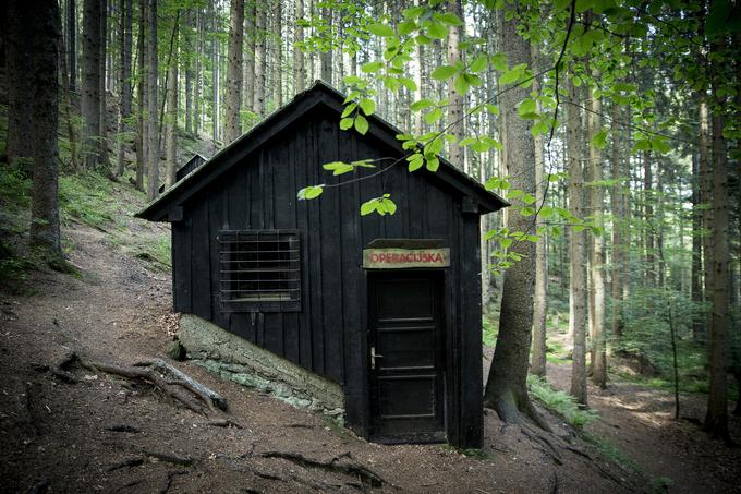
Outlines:
<svg viewBox="0 0 741 494"><path fill-rule="evenodd" d="M119 364L168 360L177 330L169 268L142 250L169 230L132 218L141 196L113 190L125 205L116 227L64 228L80 276L37 269L0 287L0 491L739 492L738 449L671 421L668 393L621 381L591 388L600 419L585 432L539 407L552 434L487 411L475 451L367 443L192 362L171 363L226 397L229 411L216 418L241 427L214 426L214 417L101 372L72 368L80 383L66 384L50 369L71 350ZM567 366L549 373L567 387ZM702 418L703 397L683 405ZM741 438L738 418L732 430Z"/></svg>

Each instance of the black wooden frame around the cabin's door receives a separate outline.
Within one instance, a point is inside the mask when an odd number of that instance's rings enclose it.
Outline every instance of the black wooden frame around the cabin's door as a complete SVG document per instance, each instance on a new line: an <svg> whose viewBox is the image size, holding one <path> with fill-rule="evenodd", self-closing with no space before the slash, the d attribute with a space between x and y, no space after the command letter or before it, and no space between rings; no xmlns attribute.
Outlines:
<svg viewBox="0 0 741 494"><path fill-rule="evenodd" d="M364 375L364 382L365 382L365 423L366 425L366 436L370 438L370 441L376 441L379 443L384 444L424 444L424 443L446 443L448 442L449 437L449 431L450 431L450 424L452 423L452 417L450 417L451 411L453 408L451 407L451 394L450 394L450 386L452 384L452 376L450 374L451 372L451 360L450 360L450 324L451 324L451 314L449 311L449 304L448 301L446 300L447 297L446 294L448 293L448 284L449 284L449 276L448 276L448 269L447 268L402 268L402 269L364 269L365 274L365 310L364 310L364 326L363 327L363 338L362 338L362 348L363 348L363 373ZM392 437L373 437L373 400L372 400L372 388L373 388L373 371L370 369L370 321L372 321L372 309L370 309L370 303L372 303L372 289L370 286L373 282L375 282L374 278L380 277L384 274L398 274L398 275L403 275L403 274L425 274L429 275L430 278L435 279L435 284L437 285L437 292L438 292L438 298L439 298L439 308L440 312L438 316L436 317L438 320L438 325L439 325L439 340L442 345L442 349L439 352L439 372L440 372L440 379L441 383L439 385L440 389L440 396L438 397L440 400L441 405L441 422L442 422L442 430L441 430L441 436L436 436L436 437L427 437L427 438L420 438L420 439L414 439L414 438L392 438Z"/></svg>

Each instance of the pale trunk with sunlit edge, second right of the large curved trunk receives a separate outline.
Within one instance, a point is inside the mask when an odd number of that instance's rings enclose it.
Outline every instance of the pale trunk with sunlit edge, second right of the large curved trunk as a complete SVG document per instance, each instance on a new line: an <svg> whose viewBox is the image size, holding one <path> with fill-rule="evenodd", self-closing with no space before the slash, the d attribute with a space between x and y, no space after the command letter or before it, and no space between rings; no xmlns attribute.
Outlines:
<svg viewBox="0 0 741 494"><path fill-rule="evenodd" d="M569 100L567 106L567 154L569 159L569 208L578 218L584 217L583 188L584 178L580 152L581 115L576 88L568 81ZM571 395L576 401L586 406L586 264L585 239L583 231L571 229L569 244L569 264L571 284L569 286L570 318L569 326L573 334L573 360L571 368Z"/></svg>

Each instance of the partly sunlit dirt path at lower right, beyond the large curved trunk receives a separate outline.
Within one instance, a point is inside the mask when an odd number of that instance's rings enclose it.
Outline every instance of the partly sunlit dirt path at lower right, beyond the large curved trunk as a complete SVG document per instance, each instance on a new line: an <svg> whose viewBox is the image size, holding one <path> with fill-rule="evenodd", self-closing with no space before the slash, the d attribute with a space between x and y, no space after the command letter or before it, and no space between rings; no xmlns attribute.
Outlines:
<svg viewBox="0 0 741 494"><path fill-rule="evenodd" d="M554 387L569 389L570 368L549 363L547 372ZM741 492L741 448L708 439L699 429L705 396L682 395L682 420L675 421L673 395L665 390L612 377L607 389L590 385L588 393L590 407L599 412L600 420L586 430L609 438L657 486L664 478L670 479L672 493ZM730 427L731 435L741 439L738 417L731 415Z"/></svg>

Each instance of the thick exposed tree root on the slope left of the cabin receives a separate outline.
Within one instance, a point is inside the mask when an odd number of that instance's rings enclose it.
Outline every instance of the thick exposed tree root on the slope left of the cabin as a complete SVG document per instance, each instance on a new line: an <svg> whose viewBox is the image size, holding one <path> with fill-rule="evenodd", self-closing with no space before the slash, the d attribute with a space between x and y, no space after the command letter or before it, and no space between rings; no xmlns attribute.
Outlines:
<svg viewBox="0 0 741 494"><path fill-rule="evenodd" d="M127 379L147 382L161 390L166 396L180 401L187 409L203 415L207 415L203 405L211 412L216 412L217 407L221 410L227 409L227 400L218 393L207 388L161 359L142 362L132 366L123 366L109 362L90 361L81 358L74 352L70 352L64 354L50 370L65 383L78 383L80 379L66 370L75 361L93 372L105 372L106 374L118 375ZM170 377L170 379L166 379L165 376ZM194 397L198 401L194 400Z"/></svg>

